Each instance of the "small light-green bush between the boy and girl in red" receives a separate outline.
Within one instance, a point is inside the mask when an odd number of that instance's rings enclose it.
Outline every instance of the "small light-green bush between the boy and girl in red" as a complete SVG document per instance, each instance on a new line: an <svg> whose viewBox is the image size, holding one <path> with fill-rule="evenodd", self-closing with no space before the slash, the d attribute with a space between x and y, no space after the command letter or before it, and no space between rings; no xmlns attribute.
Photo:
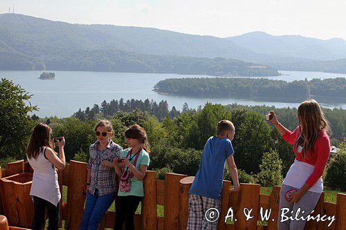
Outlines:
<svg viewBox="0 0 346 230"><path fill-rule="evenodd" d="M277 151L264 153L257 180L262 186L274 186L282 183L282 160Z"/></svg>

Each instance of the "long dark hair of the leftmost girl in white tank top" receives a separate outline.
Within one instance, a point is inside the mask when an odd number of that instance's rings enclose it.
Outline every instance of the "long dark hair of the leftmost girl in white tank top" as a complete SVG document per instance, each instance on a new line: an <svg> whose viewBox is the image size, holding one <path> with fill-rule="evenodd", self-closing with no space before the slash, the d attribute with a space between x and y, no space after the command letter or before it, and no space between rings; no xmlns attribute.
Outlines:
<svg viewBox="0 0 346 230"><path fill-rule="evenodd" d="M41 153L41 148L44 146L54 148L53 142L51 142L51 127L44 123L39 123L35 126L33 133L26 148L26 155L28 158L37 159L39 153Z"/></svg>

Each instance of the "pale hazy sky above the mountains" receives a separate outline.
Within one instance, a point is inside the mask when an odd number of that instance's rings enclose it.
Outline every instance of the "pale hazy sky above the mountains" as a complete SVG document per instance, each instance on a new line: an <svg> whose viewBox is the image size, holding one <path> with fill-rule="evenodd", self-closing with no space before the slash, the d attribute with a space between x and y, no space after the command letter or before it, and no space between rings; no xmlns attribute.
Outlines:
<svg viewBox="0 0 346 230"><path fill-rule="evenodd" d="M0 0L15 13L83 24L152 27L230 37L263 31L346 39L345 0Z"/></svg>

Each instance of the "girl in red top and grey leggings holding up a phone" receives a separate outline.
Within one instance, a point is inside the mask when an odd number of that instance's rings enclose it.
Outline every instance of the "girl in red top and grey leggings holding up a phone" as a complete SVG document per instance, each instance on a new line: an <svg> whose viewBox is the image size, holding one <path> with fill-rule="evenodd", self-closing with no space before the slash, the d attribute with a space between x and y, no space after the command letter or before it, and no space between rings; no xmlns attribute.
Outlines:
<svg viewBox="0 0 346 230"><path fill-rule="evenodd" d="M274 111L270 113L270 122L292 144L295 153L281 186L277 229L304 229L306 217L315 209L323 189L322 173L330 153L329 125L314 99L298 107L299 126L293 132L277 122Z"/></svg>

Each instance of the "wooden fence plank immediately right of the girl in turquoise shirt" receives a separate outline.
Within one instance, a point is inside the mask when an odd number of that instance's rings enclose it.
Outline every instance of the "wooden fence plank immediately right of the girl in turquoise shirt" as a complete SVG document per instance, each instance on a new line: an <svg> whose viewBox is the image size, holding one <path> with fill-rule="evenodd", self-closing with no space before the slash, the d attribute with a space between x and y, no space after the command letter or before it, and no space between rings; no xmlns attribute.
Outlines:
<svg viewBox="0 0 346 230"><path fill-rule="evenodd" d="M147 171L144 178L142 200L142 229L157 229L156 172Z"/></svg>

